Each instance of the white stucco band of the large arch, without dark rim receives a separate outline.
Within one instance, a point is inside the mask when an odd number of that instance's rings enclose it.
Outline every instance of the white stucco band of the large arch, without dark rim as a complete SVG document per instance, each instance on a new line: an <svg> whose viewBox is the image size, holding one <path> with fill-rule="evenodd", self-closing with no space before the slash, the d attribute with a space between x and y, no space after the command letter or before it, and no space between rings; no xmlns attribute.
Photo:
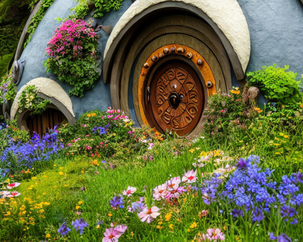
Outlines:
<svg viewBox="0 0 303 242"><path fill-rule="evenodd" d="M245 73L250 57L250 35L245 16L237 0L136 0L125 11L110 34L104 59L115 38L133 17L153 5L167 1L184 2L205 12L225 34Z"/></svg>

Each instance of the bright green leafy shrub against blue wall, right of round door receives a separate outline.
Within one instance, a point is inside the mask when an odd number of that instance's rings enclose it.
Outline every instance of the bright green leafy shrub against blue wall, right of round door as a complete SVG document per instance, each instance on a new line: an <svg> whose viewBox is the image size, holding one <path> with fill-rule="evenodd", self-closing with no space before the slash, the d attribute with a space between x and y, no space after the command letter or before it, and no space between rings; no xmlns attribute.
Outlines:
<svg viewBox="0 0 303 242"><path fill-rule="evenodd" d="M291 104L302 100L300 81L296 80L297 73L287 71L289 66L280 68L273 64L262 68L262 70L247 73L250 86L260 87L265 97L271 102Z"/></svg>

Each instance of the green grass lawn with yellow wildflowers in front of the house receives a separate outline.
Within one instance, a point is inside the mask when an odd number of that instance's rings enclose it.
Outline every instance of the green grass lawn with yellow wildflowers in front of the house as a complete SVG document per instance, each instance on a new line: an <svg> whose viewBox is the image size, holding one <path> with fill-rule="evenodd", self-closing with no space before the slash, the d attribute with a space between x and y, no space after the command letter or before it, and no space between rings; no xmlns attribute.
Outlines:
<svg viewBox="0 0 303 242"><path fill-rule="evenodd" d="M65 149L53 154L48 161L34 162L32 169L19 170L15 177L7 176L10 180L2 182L4 186L14 179L22 179L16 188L20 196L0 200L0 241L107 242L109 240L103 239L104 233L121 224L127 229L119 241L198 242L203 241L203 234L208 229L216 228L224 233L228 242L270 241L269 232L275 236L286 234L292 241L303 241L302 206L292 205L296 209L296 224L290 223L294 217L284 221L282 204L278 201L270 206L270 213L264 212L260 221L252 221L252 210L245 211L219 195L234 173L245 170L231 168L241 157L260 156L259 172L267 171L266 168L274 169L267 180L277 182L277 186L281 184L283 175L300 174L298 172L303 168L302 122L291 120L288 125L272 125L266 117L258 116L247 129L226 126L229 128L211 134L205 128L200 137L187 140L161 136L145 128L134 129L132 133L129 131L132 123L125 120L125 126L122 123L110 126L103 136L98 133L102 129L96 128L103 127L102 122L108 121L100 121L105 114L95 112L85 113L76 126L59 129L58 137L65 143ZM90 130L94 126L93 130L98 132L92 134ZM21 131L11 129L7 132L12 132L12 137L22 136ZM87 132L91 135L87 136ZM150 142L154 145L151 146ZM103 147L105 143L106 149ZM103 147L102 152L99 146ZM205 165L194 167L193 163L202 164L201 159L205 155L211 157ZM230 165L229 170L227 164ZM217 176L222 183L217 187L216 198L210 199L208 204L205 196L208 199L210 195L205 195L198 187L202 189L212 178L215 179L213 172L218 168L225 168ZM171 178L182 178L191 169L197 170L197 177L202 181L200 185L193 183L190 187L181 183L184 190L178 198L168 201L153 199L152 189ZM123 197L124 208L113 209L110 201L114 196L122 196L128 186L137 188L137 191L131 197ZM296 194L302 193L300 182L294 186L298 188ZM269 187L266 191L273 196L279 192ZM149 224L140 221L136 212L128 211L128 206L141 197L144 197L142 201L148 208L160 208L160 214ZM264 202L259 205L267 206ZM233 209L243 209L243 216L234 217ZM79 234L72 225L80 218L88 223L83 234ZM71 228L66 236L58 233L63 222Z"/></svg>

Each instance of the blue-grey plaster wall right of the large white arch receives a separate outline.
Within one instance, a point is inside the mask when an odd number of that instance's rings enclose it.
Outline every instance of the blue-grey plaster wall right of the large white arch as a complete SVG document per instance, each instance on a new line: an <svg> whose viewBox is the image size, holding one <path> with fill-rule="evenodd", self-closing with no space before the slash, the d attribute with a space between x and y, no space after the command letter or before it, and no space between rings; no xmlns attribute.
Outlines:
<svg viewBox="0 0 303 242"><path fill-rule="evenodd" d="M276 63L303 73L303 4L300 0L238 0L251 37L247 71Z"/></svg>

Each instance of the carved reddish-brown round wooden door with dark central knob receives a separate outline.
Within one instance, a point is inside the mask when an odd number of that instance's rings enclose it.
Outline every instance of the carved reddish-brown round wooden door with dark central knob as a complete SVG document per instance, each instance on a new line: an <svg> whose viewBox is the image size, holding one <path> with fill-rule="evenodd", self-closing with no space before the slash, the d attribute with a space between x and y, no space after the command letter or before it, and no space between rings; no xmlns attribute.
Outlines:
<svg viewBox="0 0 303 242"><path fill-rule="evenodd" d="M177 60L159 67L147 95L146 110L156 128L185 136L197 126L205 97L201 80L190 65Z"/></svg>

